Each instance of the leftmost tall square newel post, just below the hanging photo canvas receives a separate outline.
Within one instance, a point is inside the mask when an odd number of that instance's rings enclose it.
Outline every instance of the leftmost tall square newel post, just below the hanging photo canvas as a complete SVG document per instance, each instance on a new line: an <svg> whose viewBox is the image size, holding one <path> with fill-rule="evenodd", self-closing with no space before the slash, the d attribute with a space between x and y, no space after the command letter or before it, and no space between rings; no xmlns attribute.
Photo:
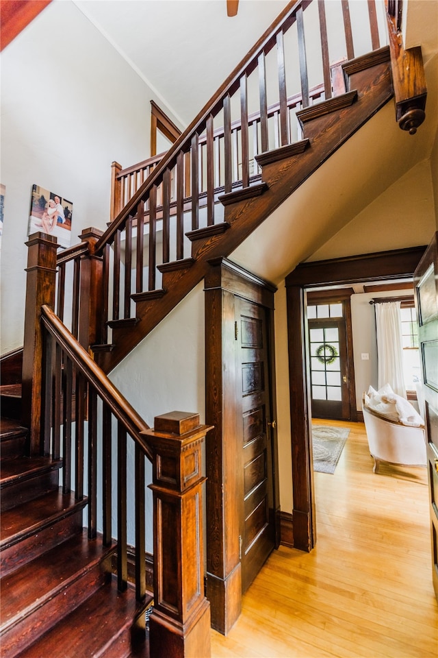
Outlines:
<svg viewBox="0 0 438 658"><path fill-rule="evenodd" d="M28 453L41 450L42 327L41 306L55 306L57 239L34 233L26 243L27 254L25 337L23 348L23 391L21 416L29 428Z"/></svg>

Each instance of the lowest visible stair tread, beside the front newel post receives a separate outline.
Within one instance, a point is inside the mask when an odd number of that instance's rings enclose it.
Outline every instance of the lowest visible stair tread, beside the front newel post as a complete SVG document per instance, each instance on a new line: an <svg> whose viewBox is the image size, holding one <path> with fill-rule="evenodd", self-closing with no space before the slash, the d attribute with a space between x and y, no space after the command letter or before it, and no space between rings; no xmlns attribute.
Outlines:
<svg viewBox="0 0 438 658"><path fill-rule="evenodd" d="M129 631L145 603L136 601L131 587L125 592L118 592L114 576L112 583L107 583L90 596L53 629L42 635L33 645L24 650L21 658L41 658L42 656L61 656L62 658L90 658L105 655L105 651L123 631ZM149 602L149 601L148 601ZM131 654L129 642L126 652ZM62 647L62 653L60 653Z"/></svg>

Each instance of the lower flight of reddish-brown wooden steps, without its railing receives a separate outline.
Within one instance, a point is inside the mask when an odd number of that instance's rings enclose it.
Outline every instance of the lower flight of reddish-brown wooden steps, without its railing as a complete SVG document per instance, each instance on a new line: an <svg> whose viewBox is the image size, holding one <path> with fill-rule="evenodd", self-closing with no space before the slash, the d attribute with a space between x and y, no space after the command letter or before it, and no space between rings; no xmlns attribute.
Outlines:
<svg viewBox="0 0 438 658"><path fill-rule="evenodd" d="M58 486L60 459L25 457L27 430L2 417L1 655L149 656L145 610L131 585L114 587L115 544L88 539L87 499Z"/></svg>

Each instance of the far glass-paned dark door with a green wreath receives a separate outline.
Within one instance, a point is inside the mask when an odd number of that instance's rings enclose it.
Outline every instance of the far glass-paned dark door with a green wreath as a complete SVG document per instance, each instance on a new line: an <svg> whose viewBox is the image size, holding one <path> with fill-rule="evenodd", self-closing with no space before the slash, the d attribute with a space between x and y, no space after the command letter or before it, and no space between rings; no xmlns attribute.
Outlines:
<svg viewBox="0 0 438 658"><path fill-rule="evenodd" d="M312 416L350 419L348 354L344 317L309 319Z"/></svg>

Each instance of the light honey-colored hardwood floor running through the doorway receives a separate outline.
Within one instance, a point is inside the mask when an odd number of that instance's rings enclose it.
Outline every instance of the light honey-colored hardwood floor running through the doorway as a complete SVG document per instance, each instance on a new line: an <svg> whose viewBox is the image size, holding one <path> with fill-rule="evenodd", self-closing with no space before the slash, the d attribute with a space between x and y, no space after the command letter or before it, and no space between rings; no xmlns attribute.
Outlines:
<svg viewBox="0 0 438 658"><path fill-rule="evenodd" d="M214 658L438 657L426 469L374 474L363 424L331 424L350 435L315 473L317 546L272 553Z"/></svg>

